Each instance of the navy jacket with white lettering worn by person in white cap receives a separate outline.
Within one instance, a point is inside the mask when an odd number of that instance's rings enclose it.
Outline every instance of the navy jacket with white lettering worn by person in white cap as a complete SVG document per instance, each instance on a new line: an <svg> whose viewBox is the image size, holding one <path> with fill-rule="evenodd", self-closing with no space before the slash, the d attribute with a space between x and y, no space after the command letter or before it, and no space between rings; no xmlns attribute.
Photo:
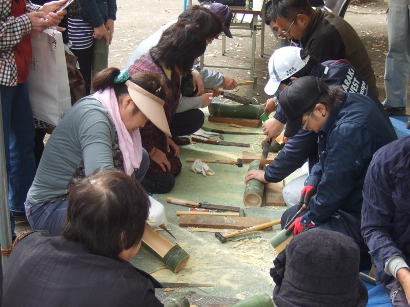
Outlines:
<svg viewBox="0 0 410 307"><path fill-rule="evenodd" d="M317 63L311 76L323 79L327 85L341 85L344 92L368 95L368 86L362 75L346 60L330 60ZM379 108L381 104L377 97L369 95ZM274 118L285 124L287 119L283 109L278 105ZM300 129L299 133L290 138L279 152L273 163L265 169L265 180L279 182L301 167L306 159L317 162L318 135L313 131Z"/></svg>

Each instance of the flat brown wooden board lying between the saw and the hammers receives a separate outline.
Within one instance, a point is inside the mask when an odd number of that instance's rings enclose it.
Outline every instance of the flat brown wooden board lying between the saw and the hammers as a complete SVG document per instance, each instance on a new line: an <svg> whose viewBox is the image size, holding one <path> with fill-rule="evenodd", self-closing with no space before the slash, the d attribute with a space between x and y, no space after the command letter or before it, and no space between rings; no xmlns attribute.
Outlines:
<svg viewBox="0 0 410 307"><path fill-rule="evenodd" d="M222 229L245 229L255 225L270 222L266 217L248 216L209 216L209 215L181 215L180 227L204 227ZM271 227L263 230L270 230Z"/></svg>

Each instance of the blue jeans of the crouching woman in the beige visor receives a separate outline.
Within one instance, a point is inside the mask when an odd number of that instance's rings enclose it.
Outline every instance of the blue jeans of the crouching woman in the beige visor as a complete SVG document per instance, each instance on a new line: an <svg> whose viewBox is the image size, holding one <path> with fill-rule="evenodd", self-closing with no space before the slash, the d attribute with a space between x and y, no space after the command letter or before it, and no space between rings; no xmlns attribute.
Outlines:
<svg viewBox="0 0 410 307"><path fill-rule="evenodd" d="M150 157L147 150L142 148L140 167L134 171L135 179L141 182L150 166ZM41 206L26 200L27 220L33 230L46 230L51 235L60 235L67 216L68 199L46 202Z"/></svg>

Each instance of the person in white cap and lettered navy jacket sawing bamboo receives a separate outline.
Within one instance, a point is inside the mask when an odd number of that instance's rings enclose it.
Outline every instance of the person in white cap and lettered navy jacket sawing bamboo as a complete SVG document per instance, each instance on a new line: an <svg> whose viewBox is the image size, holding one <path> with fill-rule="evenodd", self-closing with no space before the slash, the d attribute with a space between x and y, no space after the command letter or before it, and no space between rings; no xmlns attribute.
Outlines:
<svg viewBox="0 0 410 307"><path fill-rule="evenodd" d="M310 50L297 47L283 47L275 50L269 60L270 79L265 86L268 95L283 90L291 81L303 76L314 76L323 79L327 85L341 85L343 92L359 93L372 98L375 108L383 111L379 100L368 92L368 85L363 76L346 60L330 60L320 63L310 55ZM270 98L265 105L265 112L271 113L276 108ZM280 105L273 118L263 123L265 140L276 138L286 124L286 115ZM275 160L265 168L264 179L269 182L280 182L309 159L310 169L318 161L318 135L314 131L300 129L280 150ZM255 172L256 170L252 171ZM307 174L302 174L285 185L283 196L285 203L293 206L299 202L299 192Z"/></svg>

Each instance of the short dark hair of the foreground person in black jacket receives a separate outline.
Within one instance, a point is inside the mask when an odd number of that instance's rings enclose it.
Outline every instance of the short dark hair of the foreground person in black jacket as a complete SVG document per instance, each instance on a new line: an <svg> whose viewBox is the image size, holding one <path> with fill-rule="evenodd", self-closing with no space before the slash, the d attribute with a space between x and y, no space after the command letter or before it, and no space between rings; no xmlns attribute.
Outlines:
<svg viewBox="0 0 410 307"><path fill-rule="evenodd" d="M97 170L71 188L61 234L93 254L115 258L141 241L149 207L136 180L114 168Z"/></svg>

